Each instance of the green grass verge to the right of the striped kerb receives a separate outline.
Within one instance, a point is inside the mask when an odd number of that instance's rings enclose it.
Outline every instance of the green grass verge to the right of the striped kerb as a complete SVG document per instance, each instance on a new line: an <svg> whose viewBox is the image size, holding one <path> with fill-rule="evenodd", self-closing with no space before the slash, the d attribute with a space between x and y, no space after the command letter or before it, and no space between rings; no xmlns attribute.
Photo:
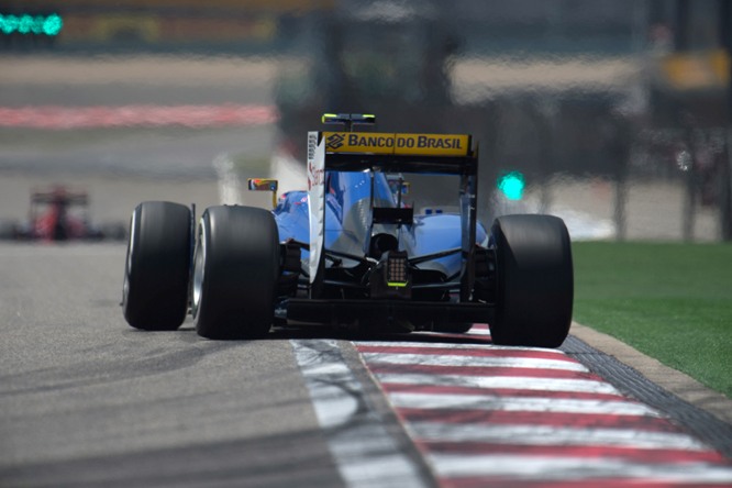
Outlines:
<svg viewBox="0 0 732 488"><path fill-rule="evenodd" d="M577 322L732 398L732 245L573 244Z"/></svg>

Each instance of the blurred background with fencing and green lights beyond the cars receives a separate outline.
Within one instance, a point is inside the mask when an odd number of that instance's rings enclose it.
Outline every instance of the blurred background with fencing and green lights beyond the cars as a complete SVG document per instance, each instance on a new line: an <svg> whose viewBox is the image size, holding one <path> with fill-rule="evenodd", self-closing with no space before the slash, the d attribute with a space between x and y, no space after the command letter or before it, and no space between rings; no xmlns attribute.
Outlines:
<svg viewBox="0 0 732 488"><path fill-rule="evenodd" d="M0 218L51 184L87 188L100 220L145 199L266 206L241 181L302 188L307 131L366 112L379 131L472 133L486 222L730 241L731 5L2 0Z"/></svg>

